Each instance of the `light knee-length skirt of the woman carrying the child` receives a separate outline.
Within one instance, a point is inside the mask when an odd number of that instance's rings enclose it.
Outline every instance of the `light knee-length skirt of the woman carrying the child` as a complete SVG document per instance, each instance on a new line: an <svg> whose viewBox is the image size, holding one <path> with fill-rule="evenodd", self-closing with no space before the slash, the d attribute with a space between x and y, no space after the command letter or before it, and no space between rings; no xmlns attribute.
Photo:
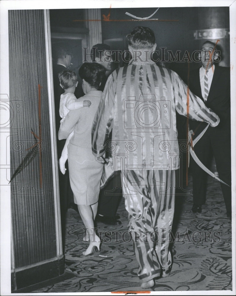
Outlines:
<svg viewBox="0 0 236 296"><path fill-rule="evenodd" d="M93 205L98 201L103 163L98 163L91 148L68 145L70 186L77 205Z"/></svg>

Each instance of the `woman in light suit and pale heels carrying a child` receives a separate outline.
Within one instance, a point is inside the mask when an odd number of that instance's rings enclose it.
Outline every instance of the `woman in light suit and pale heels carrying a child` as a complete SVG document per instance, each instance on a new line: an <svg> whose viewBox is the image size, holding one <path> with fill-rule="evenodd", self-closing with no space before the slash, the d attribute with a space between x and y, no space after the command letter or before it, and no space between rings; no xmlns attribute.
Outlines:
<svg viewBox="0 0 236 296"><path fill-rule="evenodd" d="M82 88L85 96L78 102L90 101L89 108L70 110L60 125L58 139L67 139L72 131L73 136L68 145L68 166L70 186L74 194L75 204L87 229L88 249L83 255L91 255L96 247L100 250L100 238L95 233L94 219L98 208L98 195L103 164L98 163L92 154L91 128L94 115L102 96L98 91L104 79L105 69L97 63L84 63L79 70L83 80Z"/></svg>

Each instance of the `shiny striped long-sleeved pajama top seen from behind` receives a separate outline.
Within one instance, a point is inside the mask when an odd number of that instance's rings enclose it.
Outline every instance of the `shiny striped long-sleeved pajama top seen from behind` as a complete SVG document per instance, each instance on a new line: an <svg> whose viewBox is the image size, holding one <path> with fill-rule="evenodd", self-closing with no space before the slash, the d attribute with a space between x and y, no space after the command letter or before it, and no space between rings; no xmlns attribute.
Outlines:
<svg viewBox="0 0 236 296"><path fill-rule="evenodd" d="M106 82L92 126L93 154L101 156L108 149L115 170L179 168L175 110L211 126L219 123L177 73L152 61L132 60Z"/></svg>

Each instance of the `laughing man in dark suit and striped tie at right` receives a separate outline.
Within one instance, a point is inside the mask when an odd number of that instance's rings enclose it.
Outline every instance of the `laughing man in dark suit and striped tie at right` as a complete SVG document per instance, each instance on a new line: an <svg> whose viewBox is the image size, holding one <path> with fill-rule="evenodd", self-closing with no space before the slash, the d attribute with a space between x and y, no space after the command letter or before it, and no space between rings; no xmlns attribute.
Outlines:
<svg viewBox="0 0 236 296"><path fill-rule="evenodd" d="M217 127L208 127L202 138L195 144L194 152L199 160L209 166L211 156L214 155L219 178L227 185L221 183L221 189L227 211L231 218L231 145L230 145L230 70L227 67L214 65L219 60L219 52L211 41L206 41L201 47L202 67L190 73L190 90L200 97L206 106L211 108L220 118ZM191 106L190 106L191 108ZM195 135L206 125L190 120L189 129ZM202 205L206 200L207 174L191 158L193 175L193 213L201 213Z"/></svg>

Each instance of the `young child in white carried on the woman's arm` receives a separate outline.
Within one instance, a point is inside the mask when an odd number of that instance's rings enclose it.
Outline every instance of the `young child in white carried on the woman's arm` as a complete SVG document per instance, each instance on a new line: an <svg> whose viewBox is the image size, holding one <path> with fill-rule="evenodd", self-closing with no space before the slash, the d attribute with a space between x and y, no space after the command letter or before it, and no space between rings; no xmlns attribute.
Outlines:
<svg viewBox="0 0 236 296"><path fill-rule="evenodd" d="M89 107L91 105L91 102L88 100L84 100L82 102L76 99L74 92L78 84L78 80L77 80L77 75L74 71L71 71L71 70L62 71L61 73L59 73L59 80L60 80L60 86L65 91L64 94L61 95L60 108L59 108L59 113L62 118L60 123L62 123L67 113L69 112L69 110L76 110L82 107ZM74 134L74 131L72 131L72 133L70 133L70 135L66 139L66 143L62 150L62 155L59 159L60 170L63 173L63 175L66 172L65 163L67 161L67 154L68 154L67 146L73 134Z"/></svg>

